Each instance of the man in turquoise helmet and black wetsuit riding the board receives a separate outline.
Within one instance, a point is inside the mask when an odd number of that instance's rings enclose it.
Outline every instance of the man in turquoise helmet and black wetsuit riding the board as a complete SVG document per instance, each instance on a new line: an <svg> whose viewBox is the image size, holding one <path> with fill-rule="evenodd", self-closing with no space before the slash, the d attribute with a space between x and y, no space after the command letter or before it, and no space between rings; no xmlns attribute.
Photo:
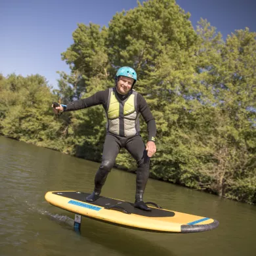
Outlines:
<svg viewBox="0 0 256 256"><path fill-rule="evenodd" d="M121 148L126 150L137 161L137 178L135 207L144 211L151 209L143 202L143 194L149 176L150 158L156 152L156 122L146 100L133 90L137 81L137 74L133 68L122 67L117 70L116 87L98 91L95 95L81 100L75 100L67 105L60 105L55 109L66 112L89 108L102 104L106 111L106 139L102 153L102 163L95 175L95 189L87 196L88 202L98 199L108 173L112 169L116 156ZM146 147L139 135L139 115L142 115L148 127L148 142Z"/></svg>

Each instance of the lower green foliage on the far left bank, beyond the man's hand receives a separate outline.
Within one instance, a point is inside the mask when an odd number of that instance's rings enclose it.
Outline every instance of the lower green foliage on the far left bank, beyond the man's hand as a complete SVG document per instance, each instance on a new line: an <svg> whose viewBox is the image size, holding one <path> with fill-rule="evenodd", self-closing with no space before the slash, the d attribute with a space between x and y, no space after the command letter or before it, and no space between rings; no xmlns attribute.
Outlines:
<svg viewBox="0 0 256 256"><path fill-rule="evenodd" d="M40 146L56 148L59 124L53 120L54 96L41 75L11 74L1 80L1 134Z"/></svg>

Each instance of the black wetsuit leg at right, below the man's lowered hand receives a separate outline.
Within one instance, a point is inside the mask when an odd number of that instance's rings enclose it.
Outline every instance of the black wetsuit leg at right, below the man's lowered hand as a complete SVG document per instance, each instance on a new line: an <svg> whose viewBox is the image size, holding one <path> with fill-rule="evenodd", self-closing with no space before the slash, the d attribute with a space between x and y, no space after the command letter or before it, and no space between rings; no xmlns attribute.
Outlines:
<svg viewBox="0 0 256 256"><path fill-rule="evenodd" d="M143 202L143 194L149 177L150 158L141 137L135 136L127 140L125 148L137 161L135 207L144 211L151 211L150 207Z"/></svg>

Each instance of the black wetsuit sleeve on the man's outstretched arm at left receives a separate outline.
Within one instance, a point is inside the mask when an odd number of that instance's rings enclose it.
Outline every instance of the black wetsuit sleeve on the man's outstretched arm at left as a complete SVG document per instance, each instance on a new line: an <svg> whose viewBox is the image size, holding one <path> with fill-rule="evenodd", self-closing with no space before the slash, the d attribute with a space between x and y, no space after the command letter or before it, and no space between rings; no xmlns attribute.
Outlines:
<svg viewBox="0 0 256 256"><path fill-rule="evenodd" d="M81 98L80 100L74 100L66 105L64 112L72 110L81 110L83 108L89 108L96 105L106 105L108 101L108 89L105 91L98 91L88 98Z"/></svg>

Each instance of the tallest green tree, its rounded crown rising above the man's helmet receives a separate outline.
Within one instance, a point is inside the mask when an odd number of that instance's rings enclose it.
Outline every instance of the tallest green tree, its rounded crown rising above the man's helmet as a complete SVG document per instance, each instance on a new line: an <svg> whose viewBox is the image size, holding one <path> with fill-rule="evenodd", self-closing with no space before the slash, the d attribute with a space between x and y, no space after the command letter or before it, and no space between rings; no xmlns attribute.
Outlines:
<svg viewBox="0 0 256 256"><path fill-rule="evenodd" d="M167 143L165 137L171 133L167 120L170 118L168 106L172 93L171 85L164 84L163 78L173 70L176 70L174 76L177 79L181 79L182 72L188 73L185 69L189 64L185 58L192 52L196 41L189 16L175 1L147 1L143 5L139 3L133 10L117 13L109 24L106 45L113 67L110 74L114 76L116 67L123 65L135 68L139 77L135 89L146 98L157 120L158 154L152 158L152 173L160 178L160 172L171 169L170 165L163 163L168 162L163 147ZM178 70L181 63L184 68ZM146 142L146 125L143 120L140 124ZM122 153L117 156L117 164L134 169L131 157Z"/></svg>

